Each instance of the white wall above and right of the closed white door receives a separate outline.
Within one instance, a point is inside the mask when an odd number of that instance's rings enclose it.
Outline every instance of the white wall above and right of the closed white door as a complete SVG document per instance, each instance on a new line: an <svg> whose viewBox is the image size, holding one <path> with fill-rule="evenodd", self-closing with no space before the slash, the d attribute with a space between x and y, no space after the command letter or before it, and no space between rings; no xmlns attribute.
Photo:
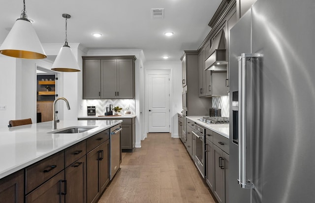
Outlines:
<svg viewBox="0 0 315 203"><path fill-rule="evenodd" d="M165 70L169 69L172 72L172 106L171 106L171 117L172 117L172 137L178 137L178 116L177 113L182 111L182 62L178 61L147 61L144 64L145 70Z"/></svg>

